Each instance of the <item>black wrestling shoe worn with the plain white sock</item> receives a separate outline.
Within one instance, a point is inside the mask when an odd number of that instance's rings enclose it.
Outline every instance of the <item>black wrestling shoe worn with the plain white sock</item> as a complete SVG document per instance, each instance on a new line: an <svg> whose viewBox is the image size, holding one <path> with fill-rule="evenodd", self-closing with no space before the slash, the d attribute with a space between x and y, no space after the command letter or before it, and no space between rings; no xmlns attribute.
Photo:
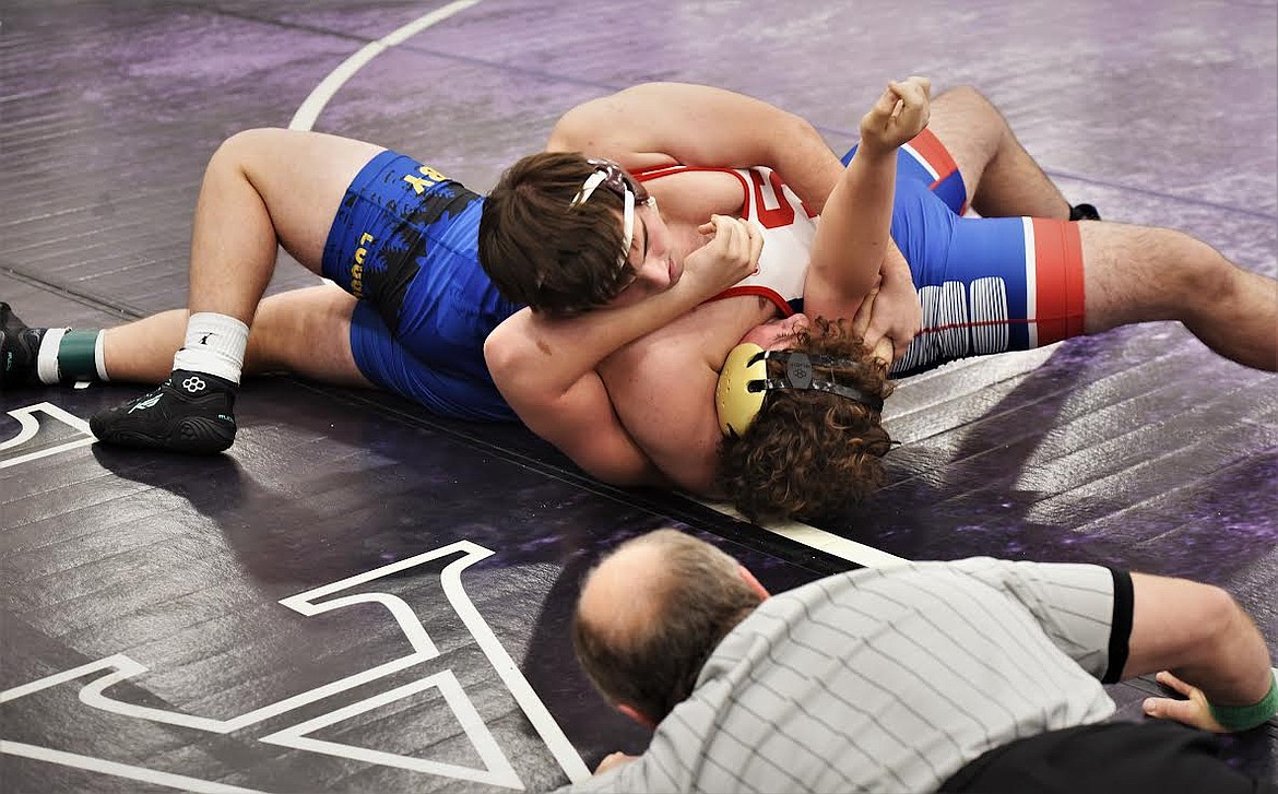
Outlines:
<svg viewBox="0 0 1278 794"><path fill-rule="evenodd" d="M155 390L88 421L104 444L211 455L235 441L235 384L174 370Z"/></svg>

